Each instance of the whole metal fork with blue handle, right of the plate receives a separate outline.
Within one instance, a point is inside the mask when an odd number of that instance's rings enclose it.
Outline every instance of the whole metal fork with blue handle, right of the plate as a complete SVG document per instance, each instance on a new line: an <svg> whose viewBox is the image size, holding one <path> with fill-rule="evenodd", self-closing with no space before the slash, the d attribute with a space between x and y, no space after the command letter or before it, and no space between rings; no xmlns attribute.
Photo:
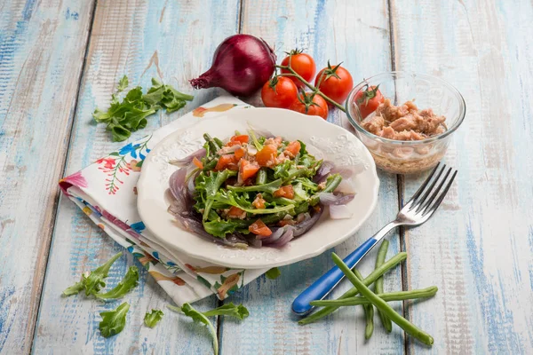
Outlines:
<svg viewBox="0 0 533 355"><path fill-rule="evenodd" d="M457 170L449 168L446 170L446 165L442 165L439 170L440 163L434 168L429 177L426 178L424 184L418 188L418 191L413 195L409 202L398 212L396 219L384 226L378 233L371 237L368 241L362 243L359 248L356 248L352 254L346 256L344 262L350 268L378 244L386 233L389 233L395 227L400 225L417 226L425 223L433 216L434 211L438 209L444 196L448 193L449 186L453 183L457 175ZM437 172L437 170L439 170ZM446 170L443 178L442 173ZM452 173L453 171L453 173ZM451 174L451 177L449 175ZM437 183L439 183L437 185ZM328 296L333 288L335 288L340 280L344 278L344 273L338 267L332 268L326 272L320 279L314 281L314 284L306 288L292 303L292 312L298 315L306 315L313 310L313 306L309 304L311 301L323 299Z"/></svg>

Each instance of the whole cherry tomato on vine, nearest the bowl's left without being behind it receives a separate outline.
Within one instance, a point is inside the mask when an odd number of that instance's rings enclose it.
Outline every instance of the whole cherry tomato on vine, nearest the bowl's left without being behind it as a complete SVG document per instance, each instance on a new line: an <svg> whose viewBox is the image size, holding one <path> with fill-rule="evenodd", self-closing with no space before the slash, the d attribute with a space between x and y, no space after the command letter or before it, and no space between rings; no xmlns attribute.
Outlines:
<svg viewBox="0 0 533 355"><path fill-rule="evenodd" d="M320 91L333 101L342 104L354 87L352 75L344 67L340 67L340 64L337 67L331 67L330 62L328 62L328 67L324 67L316 75L314 86L318 86L322 74Z"/></svg>

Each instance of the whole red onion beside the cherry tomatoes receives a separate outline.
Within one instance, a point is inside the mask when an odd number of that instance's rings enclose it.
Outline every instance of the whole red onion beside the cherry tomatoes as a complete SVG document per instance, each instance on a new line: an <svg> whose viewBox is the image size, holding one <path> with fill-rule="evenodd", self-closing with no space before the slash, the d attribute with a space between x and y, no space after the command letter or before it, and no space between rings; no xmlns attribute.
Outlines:
<svg viewBox="0 0 533 355"><path fill-rule="evenodd" d="M276 56L258 37L227 37L215 51L211 68L190 80L195 89L220 87L235 96L250 96L274 73Z"/></svg>

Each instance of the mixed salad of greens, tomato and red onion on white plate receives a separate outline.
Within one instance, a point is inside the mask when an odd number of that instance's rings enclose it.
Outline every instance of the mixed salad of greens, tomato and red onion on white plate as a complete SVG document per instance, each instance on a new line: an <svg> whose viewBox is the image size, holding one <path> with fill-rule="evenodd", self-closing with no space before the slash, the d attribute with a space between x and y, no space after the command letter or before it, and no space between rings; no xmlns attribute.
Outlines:
<svg viewBox="0 0 533 355"><path fill-rule="evenodd" d="M235 132L204 134L203 148L170 163L169 212L190 232L220 244L280 248L322 216L349 218L353 171L309 154L300 140ZM344 178L344 181L343 181Z"/></svg>

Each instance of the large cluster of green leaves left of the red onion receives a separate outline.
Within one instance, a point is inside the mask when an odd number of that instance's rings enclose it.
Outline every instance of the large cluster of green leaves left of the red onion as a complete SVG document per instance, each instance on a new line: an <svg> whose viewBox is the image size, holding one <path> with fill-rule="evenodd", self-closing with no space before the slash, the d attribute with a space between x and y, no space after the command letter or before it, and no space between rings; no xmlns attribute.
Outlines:
<svg viewBox="0 0 533 355"><path fill-rule="evenodd" d="M128 91L124 99L119 101L117 95L128 84L128 77L124 75L118 83L116 93L111 95L111 105L107 111L96 108L92 114L96 122L107 122L107 130L111 131L115 141L123 141L131 136L131 131L145 128L147 116L155 114L162 107L166 108L167 113L171 113L193 99L153 78L152 87L146 94L143 95L142 88L138 86Z"/></svg>

